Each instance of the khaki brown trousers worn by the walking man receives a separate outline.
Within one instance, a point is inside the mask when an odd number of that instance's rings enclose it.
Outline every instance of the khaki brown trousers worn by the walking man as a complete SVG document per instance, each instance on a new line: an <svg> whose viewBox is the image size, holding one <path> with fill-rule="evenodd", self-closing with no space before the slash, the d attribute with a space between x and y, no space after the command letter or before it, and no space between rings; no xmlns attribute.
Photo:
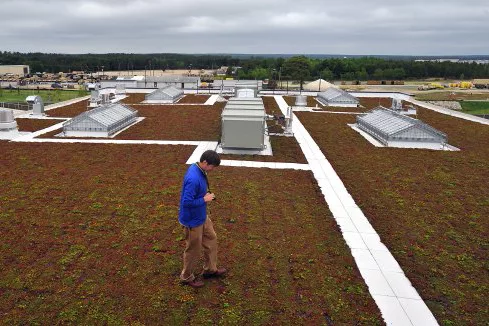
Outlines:
<svg viewBox="0 0 489 326"><path fill-rule="evenodd" d="M204 249L204 272L217 271L217 235L214 225L209 217L204 224L194 228L184 227L186 247L183 252L183 270L180 279L183 282L192 282L195 279L194 271Z"/></svg>

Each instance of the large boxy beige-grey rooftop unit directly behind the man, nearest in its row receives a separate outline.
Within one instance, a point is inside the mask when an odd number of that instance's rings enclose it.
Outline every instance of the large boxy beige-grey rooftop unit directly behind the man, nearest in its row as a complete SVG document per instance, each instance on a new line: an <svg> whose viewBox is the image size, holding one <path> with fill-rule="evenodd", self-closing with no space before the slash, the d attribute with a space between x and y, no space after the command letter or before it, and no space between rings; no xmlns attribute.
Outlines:
<svg viewBox="0 0 489 326"><path fill-rule="evenodd" d="M224 109L222 148L263 149L265 147L265 112Z"/></svg>

